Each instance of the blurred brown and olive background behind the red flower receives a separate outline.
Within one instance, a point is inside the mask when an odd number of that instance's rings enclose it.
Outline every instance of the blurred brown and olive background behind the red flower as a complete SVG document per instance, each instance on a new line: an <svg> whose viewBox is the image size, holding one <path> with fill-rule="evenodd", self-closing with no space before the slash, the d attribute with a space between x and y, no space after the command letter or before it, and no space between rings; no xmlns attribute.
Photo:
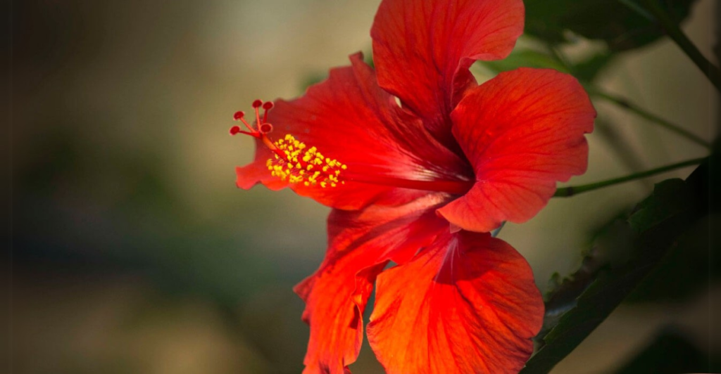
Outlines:
<svg viewBox="0 0 721 374"><path fill-rule="evenodd" d="M289 191L236 189L234 168L254 150L227 130L254 99L298 96L350 53L369 55L378 4L14 1L4 104L12 268L2 265L12 272L4 277L12 308L3 311L12 314L11 339L2 347L10 372L300 372L309 329L291 288L322 260L329 209ZM717 6L698 0L684 22L709 58ZM519 46L534 43L524 37ZM582 58L599 45L564 48ZM717 93L669 40L619 54L596 84L704 140L717 136ZM595 104L588 173L570 184L709 152ZM552 273L578 268L599 227L655 181L692 169L553 199L500 237L526 256L544 291ZM720 291L714 281L622 305L553 373L615 370L669 326L718 355L721 329L709 313ZM381 373L367 345L351 368Z"/></svg>

